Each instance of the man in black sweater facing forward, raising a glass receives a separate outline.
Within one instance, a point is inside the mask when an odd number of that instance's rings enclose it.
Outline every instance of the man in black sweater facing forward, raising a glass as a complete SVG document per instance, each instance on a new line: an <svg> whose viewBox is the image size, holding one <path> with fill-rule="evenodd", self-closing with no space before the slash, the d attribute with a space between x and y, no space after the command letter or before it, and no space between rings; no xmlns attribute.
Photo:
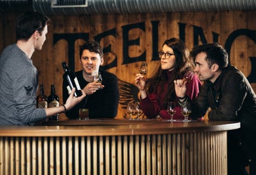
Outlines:
<svg viewBox="0 0 256 175"><path fill-rule="evenodd" d="M86 98L73 109L66 111L68 118L78 118L79 109L89 109L89 118L115 118L118 112L118 78L113 73L104 71L100 66L104 62L103 50L96 41L86 41L80 47L81 71L75 72ZM100 75L100 81L95 78ZM63 100L68 98L68 82L63 80Z"/></svg>

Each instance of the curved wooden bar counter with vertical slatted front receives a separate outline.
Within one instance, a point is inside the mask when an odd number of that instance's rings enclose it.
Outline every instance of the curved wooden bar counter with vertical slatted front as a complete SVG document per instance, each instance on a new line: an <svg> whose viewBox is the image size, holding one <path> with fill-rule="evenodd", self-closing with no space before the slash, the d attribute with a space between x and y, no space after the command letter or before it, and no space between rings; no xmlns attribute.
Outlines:
<svg viewBox="0 0 256 175"><path fill-rule="evenodd" d="M227 174L239 122L60 120L0 127L0 174Z"/></svg>

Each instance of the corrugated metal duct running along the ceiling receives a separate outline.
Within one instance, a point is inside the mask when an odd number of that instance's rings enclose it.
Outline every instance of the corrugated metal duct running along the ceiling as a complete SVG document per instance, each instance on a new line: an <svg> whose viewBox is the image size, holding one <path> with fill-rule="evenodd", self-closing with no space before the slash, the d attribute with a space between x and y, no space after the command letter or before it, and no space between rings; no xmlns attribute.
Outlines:
<svg viewBox="0 0 256 175"><path fill-rule="evenodd" d="M75 1L81 0L66 0L67 3ZM52 8L52 2L51 0L1 0L0 11L30 8L45 15L95 15L256 10L256 0L87 0L87 7L70 6L69 8Z"/></svg>

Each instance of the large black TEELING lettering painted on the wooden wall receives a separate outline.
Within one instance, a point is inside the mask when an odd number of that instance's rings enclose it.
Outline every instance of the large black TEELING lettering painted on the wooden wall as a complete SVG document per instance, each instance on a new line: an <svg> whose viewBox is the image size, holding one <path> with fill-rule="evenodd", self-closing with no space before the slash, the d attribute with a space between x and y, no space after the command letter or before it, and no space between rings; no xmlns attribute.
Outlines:
<svg viewBox="0 0 256 175"><path fill-rule="evenodd" d="M158 24L159 21L151 21L152 24L152 61L155 61L158 59L157 53L158 53ZM179 38L185 42L185 26L186 24L178 23L179 26ZM145 32L145 23L140 22L137 24L128 24L126 26L122 26L122 64L131 64L134 62L141 62L146 60L146 52L145 50L141 55L138 55L137 57L130 57L129 56L129 46L140 46L140 37L136 39L130 39L129 40L129 31L132 29L138 28ZM100 40L104 37L107 37L109 35L112 35L113 37L116 37L116 28L113 28L111 30L107 30L104 33L100 33L99 35L96 35L93 37L96 41L100 42ZM238 29L233 31L226 40L226 43L224 45L224 48L226 48L228 54L230 54L232 43L235 41L235 39L239 36L246 36L253 40L256 44L256 30L249 30L249 29ZM199 44L199 39L201 40L201 43L206 44L208 43L207 39L205 38L205 35L203 33L203 28L199 26L193 26L193 37L194 37L194 46ZM53 34L53 45L55 45L60 39L65 39L68 42L68 65L71 69L74 69L75 67L75 41L77 39L89 39L89 33L54 33ZM212 32L212 42L218 42L219 34ZM104 46L103 48L104 53L111 53L111 44L108 46ZM115 57L113 62L107 64L104 66L105 69L113 68L117 66L117 59L118 57ZM250 83L256 82L256 57L249 57L251 65L252 65L252 71L250 75L248 75L248 80Z"/></svg>

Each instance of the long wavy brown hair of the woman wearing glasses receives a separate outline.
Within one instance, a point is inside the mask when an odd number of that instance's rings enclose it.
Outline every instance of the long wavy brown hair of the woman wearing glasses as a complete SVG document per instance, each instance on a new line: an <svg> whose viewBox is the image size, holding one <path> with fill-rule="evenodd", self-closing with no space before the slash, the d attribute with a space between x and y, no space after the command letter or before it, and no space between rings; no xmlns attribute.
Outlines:
<svg viewBox="0 0 256 175"><path fill-rule="evenodd" d="M189 50L185 43L181 41L181 39L177 38L170 38L166 39L163 43L164 45L167 45L168 47L172 48L174 51L174 55L176 58L175 64L174 64L174 75L172 76L172 80L170 82L167 82L167 71L163 70L161 68L161 63L158 63L158 68L154 72L151 78L147 80L147 92L148 93L158 93L161 95L163 93L163 90L165 88L164 84L168 83L168 87L170 87L169 91L167 91L167 95L165 95L164 106L167 105L167 102L174 101L176 94L174 90L174 80L181 79L185 72L188 70L194 69L194 63L192 59L189 57ZM165 107L162 107L165 108Z"/></svg>

